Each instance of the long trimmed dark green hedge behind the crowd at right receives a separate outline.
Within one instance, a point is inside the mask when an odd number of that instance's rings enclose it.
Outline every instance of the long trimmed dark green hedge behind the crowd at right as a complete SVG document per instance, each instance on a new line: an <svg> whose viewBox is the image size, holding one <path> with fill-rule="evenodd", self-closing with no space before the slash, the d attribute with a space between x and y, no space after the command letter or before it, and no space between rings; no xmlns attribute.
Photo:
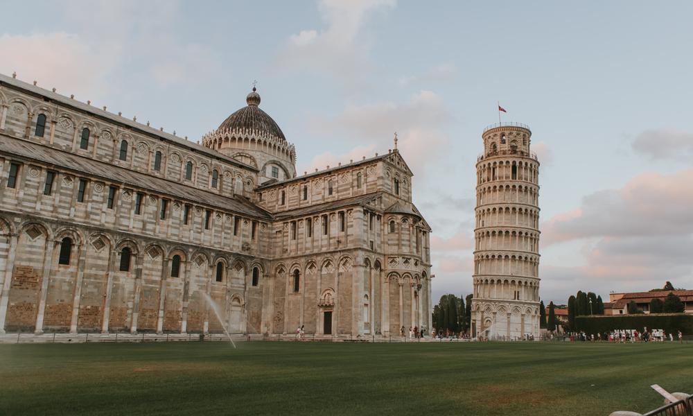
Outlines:
<svg viewBox="0 0 693 416"><path fill-rule="evenodd" d="M683 335L693 334L693 315L685 313L649 313L638 315L591 315L576 316L575 327L585 333L604 333L614 329L637 329L642 331L647 327L651 329L664 329L667 333L678 331Z"/></svg>

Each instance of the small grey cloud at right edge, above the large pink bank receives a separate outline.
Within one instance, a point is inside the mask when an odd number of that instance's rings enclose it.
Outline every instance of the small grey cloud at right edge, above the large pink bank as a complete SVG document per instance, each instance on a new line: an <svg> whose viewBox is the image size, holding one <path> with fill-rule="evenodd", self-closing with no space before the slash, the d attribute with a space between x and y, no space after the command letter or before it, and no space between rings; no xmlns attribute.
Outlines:
<svg viewBox="0 0 693 416"><path fill-rule="evenodd" d="M645 130L633 141L635 153L651 160L693 163L693 133L674 129Z"/></svg>

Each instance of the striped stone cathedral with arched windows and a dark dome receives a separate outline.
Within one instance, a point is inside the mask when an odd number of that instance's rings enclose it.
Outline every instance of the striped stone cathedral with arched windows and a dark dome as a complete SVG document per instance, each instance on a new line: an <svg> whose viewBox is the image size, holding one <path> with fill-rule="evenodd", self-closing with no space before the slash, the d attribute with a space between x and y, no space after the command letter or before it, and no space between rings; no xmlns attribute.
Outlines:
<svg viewBox="0 0 693 416"><path fill-rule="evenodd" d="M0 75L0 333L430 331L396 142L297 175L260 103L198 144Z"/></svg>

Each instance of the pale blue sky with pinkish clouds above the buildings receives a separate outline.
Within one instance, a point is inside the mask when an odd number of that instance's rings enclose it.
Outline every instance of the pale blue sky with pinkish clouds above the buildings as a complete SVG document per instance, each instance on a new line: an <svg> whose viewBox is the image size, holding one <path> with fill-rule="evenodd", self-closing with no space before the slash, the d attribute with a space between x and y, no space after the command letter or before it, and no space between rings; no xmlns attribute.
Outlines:
<svg viewBox="0 0 693 416"><path fill-rule="evenodd" d="M398 148L433 299L472 288L476 157L541 162L540 295L693 289L693 2L7 1L0 72L198 140L261 107L313 171ZM434 301L435 303L435 301Z"/></svg>

